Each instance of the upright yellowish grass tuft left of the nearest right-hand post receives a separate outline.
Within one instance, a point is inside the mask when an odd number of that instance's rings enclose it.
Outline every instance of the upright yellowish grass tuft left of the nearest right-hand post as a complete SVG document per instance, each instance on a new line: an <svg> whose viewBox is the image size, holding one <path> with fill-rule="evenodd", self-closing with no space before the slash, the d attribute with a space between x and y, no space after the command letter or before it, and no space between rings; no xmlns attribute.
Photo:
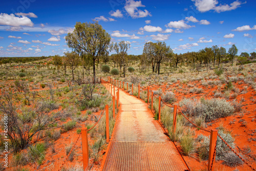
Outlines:
<svg viewBox="0 0 256 171"><path fill-rule="evenodd" d="M188 129L180 138L182 152L186 156L190 156L196 151L196 141L193 137L193 131Z"/></svg>

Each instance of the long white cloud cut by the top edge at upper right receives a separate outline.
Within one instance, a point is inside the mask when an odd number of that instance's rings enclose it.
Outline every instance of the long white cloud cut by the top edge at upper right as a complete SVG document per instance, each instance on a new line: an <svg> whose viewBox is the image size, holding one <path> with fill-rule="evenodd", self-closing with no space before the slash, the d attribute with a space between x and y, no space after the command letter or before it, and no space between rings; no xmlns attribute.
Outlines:
<svg viewBox="0 0 256 171"><path fill-rule="evenodd" d="M217 6L218 5L217 0L191 0L191 1L195 2L195 6L197 7L197 10L200 12L214 10L215 12L220 13L223 11L230 11L230 10L237 9L242 4L239 1L234 1L230 5L225 4L225 5Z"/></svg>

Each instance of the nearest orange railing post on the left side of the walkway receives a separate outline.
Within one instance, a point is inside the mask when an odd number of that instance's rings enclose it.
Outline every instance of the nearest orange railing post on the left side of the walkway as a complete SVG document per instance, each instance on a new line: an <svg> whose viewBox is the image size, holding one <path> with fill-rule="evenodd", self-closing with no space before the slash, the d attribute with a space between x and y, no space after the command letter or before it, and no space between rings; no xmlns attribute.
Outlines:
<svg viewBox="0 0 256 171"><path fill-rule="evenodd" d="M88 145L88 134L87 127L81 130L82 134L82 161L83 170L87 170L89 164L89 145Z"/></svg>

